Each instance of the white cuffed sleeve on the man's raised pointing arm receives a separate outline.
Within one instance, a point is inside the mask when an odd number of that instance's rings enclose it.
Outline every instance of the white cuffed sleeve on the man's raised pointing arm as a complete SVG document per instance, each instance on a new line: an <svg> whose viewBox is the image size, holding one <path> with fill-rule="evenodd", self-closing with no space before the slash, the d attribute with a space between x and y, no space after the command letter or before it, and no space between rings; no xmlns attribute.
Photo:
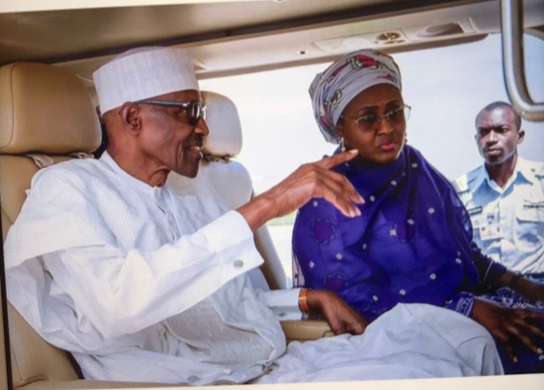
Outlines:
<svg viewBox="0 0 544 390"><path fill-rule="evenodd" d="M46 254L43 261L77 315L115 337L181 313L262 257L246 220L231 211L155 252L95 245Z"/></svg>

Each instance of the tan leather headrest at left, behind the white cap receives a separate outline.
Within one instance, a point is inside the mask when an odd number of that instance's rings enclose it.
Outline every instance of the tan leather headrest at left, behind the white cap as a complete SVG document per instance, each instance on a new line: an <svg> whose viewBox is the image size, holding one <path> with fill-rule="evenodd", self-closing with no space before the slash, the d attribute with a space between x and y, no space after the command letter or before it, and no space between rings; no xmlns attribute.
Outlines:
<svg viewBox="0 0 544 390"><path fill-rule="evenodd" d="M100 140L95 107L76 75L30 62L0 68L0 153L90 153Z"/></svg>

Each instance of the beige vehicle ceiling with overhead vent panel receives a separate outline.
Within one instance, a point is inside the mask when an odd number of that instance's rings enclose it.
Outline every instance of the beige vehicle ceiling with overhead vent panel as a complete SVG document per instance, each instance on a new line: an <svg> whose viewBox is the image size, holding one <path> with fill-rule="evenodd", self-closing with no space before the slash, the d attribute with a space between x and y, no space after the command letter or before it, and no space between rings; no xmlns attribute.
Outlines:
<svg viewBox="0 0 544 390"><path fill-rule="evenodd" d="M525 28L542 31L544 1L524 3ZM365 44L391 53L498 31L498 0L260 0L10 12L0 14L0 65L57 64L90 86L96 68L135 46L186 47L206 78L323 62Z"/></svg>

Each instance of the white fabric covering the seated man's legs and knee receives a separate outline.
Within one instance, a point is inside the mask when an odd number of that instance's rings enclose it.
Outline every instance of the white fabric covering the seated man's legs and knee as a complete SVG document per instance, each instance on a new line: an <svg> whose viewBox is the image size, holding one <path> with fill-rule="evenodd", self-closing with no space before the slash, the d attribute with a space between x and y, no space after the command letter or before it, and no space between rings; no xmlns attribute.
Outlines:
<svg viewBox="0 0 544 390"><path fill-rule="evenodd" d="M291 342L255 383L434 378L503 373L491 335L452 310L398 304L362 336Z"/></svg>

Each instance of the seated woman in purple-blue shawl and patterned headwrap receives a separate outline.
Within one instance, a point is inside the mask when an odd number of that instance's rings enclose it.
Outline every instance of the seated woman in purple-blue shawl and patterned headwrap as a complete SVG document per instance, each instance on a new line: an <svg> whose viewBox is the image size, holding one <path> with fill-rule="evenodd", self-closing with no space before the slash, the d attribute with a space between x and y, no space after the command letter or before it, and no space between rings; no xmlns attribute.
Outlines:
<svg viewBox="0 0 544 390"><path fill-rule="evenodd" d="M453 187L406 145L410 107L394 60L373 50L345 55L310 93L336 153L358 151L336 171L366 202L354 218L318 198L300 209L295 285L332 290L369 322L398 302L456 310L494 336L506 373L543 372L544 306L525 297L544 300L544 286L481 254Z"/></svg>

